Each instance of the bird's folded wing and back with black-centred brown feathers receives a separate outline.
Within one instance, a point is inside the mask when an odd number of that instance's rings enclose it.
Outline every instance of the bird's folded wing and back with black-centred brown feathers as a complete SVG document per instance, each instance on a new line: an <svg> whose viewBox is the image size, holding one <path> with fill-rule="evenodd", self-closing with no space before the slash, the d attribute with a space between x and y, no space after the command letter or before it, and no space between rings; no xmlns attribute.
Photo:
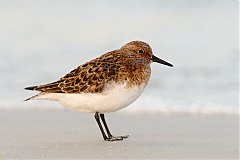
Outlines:
<svg viewBox="0 0 240 160"><path fill-rule="evenodd" d="M122 69L118 63L120 56L106 53L77 67L56 82L26 89L50 93L101 93L107 82L118 78L118 71Z"/></svg>

